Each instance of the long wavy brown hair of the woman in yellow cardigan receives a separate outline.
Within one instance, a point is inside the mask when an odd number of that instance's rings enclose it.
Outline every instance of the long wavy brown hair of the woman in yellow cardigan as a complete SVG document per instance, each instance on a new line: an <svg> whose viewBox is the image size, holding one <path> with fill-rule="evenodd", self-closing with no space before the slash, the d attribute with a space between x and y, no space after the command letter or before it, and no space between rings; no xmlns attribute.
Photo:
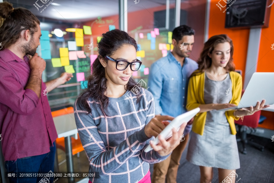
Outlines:
<svg viewBox="0 0 274 183"><path fill-rule="evenodd" d="M224 68L227 70L227 72L235 70L235 64L233 62L233 52L234 52L233 42L227 36L227 34L219 34L219 35L212 36L211 38L209 38L208 41L205 42L200 58L197 61L198 70L196 70L191 76L202 74L206 69L208 69L211 66L212 60L208 56L208 54L212 53L212 51L214 50L217 44L224 43L224 42L228 42L230 44L230 59Z"/></svg>

